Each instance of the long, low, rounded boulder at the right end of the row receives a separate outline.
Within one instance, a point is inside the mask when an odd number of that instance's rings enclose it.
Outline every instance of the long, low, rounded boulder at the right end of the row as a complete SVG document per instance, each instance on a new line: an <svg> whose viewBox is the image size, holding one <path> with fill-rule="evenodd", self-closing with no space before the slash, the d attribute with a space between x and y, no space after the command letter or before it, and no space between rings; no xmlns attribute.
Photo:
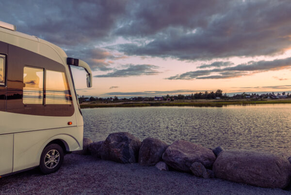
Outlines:
<svg viewBox="0 0 291 195"><path fill-rule="evenodd" d="M291 165L280 155L253 150L226 150L213 164L217 178L267 188L285 188Z"/></svg>

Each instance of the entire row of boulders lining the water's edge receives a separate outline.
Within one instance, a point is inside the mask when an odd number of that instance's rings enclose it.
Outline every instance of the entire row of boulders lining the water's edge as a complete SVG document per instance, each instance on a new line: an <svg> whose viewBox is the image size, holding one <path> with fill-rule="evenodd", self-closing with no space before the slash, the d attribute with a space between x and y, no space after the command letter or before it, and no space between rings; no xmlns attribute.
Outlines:
<svg viewBox="0 0 291 195"><path fill-rule="evenodd" d="M167 145L156 138L142 142L127 132L110 134L105 141L84 138L79 155L91 154L118 163L139 163L159 170L189 172L201 178L219 178L264 188L290 185L290 159L256 150L213 150L185 140Z"/></svg>

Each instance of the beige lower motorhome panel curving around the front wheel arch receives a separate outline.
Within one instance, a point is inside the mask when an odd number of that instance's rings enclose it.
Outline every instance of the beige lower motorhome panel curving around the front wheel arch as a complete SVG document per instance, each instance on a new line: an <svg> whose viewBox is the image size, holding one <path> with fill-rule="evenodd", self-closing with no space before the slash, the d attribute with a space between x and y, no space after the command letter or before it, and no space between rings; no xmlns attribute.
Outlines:
<svg viewBox="0 0 291 195"><path fill-rule="evenodd" d="M40 155L52 140L66 143L67 150L81 150L83 127L67 127L14 134L13 172L39 165Z"/></svg>

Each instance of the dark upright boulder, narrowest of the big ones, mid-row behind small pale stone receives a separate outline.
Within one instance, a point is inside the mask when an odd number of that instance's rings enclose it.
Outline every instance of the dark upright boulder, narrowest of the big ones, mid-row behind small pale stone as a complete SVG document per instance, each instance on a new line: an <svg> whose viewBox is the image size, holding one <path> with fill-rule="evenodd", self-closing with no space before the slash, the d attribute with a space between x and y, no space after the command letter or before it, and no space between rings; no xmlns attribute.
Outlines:
<svg viewBox="0 0 291 195"><path fill-rule="evenodd" d="M141 145L138 155L138 163L143 166L154 166L162 161L162 154L168 145L155 138L146 138Z"/></svg>

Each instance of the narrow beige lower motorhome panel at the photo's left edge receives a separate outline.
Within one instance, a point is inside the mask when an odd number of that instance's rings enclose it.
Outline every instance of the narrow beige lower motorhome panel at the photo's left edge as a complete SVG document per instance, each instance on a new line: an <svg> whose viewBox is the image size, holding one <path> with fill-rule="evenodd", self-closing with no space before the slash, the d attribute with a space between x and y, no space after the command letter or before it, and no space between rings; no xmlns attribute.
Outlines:
<svg viewBox="0 0 291 195"><path fill-rule="evenodd" d="M12 172L13 134L0 135L0 175Z"/></svg>

